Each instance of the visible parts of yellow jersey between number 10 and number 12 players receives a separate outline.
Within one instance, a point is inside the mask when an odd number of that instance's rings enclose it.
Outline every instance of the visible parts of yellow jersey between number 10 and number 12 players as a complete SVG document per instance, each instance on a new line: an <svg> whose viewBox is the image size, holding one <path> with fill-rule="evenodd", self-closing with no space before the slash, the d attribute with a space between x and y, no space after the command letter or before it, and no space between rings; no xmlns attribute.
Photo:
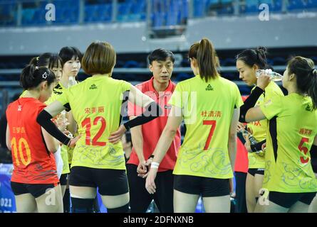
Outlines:
<svg viewBox="0 0 317 227"><path fill-rule="evenodd" d="M63 87L63 85L61 84L61 82L59 82L56 87L54 87L53 89L53 93L51 95L51 97L45 102L45 104L49 105L51 104L53 101L56 101L57 97L60 96L61 94L63 94L63 91L65 91L66 88ZM69 162L68 162L68 150L67 150L67 146L66 145L61 145L61 157L63 160L63 171L62 171L62 175L64 174L68 174L71 171L69 170Z"/></svg>

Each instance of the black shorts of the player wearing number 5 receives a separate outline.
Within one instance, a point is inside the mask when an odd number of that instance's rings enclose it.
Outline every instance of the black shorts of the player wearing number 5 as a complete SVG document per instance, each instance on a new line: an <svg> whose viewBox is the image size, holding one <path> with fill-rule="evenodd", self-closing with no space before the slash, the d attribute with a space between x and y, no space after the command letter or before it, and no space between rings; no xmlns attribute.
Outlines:
<svg viewBox="0 0 317 227"><path fill-rule="evenodd" d="M290 208L297 201L301 201L304 204L310 205L313 198L316 196L316 192L303 192L303 193L285 193L285 192L269 192L269 201Z"/></svg>

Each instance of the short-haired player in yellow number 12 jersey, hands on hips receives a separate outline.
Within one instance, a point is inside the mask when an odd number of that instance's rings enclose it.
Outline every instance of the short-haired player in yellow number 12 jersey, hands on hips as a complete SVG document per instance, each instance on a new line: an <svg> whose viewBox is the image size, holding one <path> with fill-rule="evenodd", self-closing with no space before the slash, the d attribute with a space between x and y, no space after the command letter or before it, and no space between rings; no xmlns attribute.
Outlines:
<svg viewBox="0 0 317 227"><path fill-rule="evenodd" d="M155 101L131 84L111 78L115 60L115 50L109 43L91 43L82 63L92 77L67 89L37 118L43 128L68 145L73 140L58 131L50 119L63 109L71 109L78 133L83 135L73 153L70 175L75 213L93 211L97 187L108 213L128 211L128 179L120 139L126 129L147 123L162 112ZM128 100L147 111L120 126L122 103Z"/></svg>

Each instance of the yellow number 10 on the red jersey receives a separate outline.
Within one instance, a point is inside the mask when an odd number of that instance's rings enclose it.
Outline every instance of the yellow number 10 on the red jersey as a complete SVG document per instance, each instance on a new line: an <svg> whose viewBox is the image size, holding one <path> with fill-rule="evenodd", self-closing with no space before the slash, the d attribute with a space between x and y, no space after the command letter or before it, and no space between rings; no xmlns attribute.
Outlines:
<svg viewBox="0 0 317 227"><path fill-rule="evenodd" d="M23 153L23 148L26 150L26 160L24 159L24 153ZM12 138L11 140L11 148L14 151L14 157L16 159L16 165L20 165L20 160L23 165L28 165L31 162L31 150L30 147L28 146L28 142L26 141L25 138L20 138L19 139L19 147L18 144L16 143L16 138ZM19 155L20 155L20 160L18 157L18 150L19 150Z"/></svg>

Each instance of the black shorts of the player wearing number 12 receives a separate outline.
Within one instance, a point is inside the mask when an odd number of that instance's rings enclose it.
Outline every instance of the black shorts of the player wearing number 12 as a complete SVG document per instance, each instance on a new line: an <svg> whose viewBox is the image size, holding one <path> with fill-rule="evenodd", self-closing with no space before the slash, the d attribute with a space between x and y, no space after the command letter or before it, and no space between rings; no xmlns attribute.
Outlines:
<svg viewBox="0 0 317 227"><path fill-rule="evenodd" d="M69 185L78 187L98 187L102 196L118 196L129 192L125 170L95 169L74 166L69 175Z"/></svg>

